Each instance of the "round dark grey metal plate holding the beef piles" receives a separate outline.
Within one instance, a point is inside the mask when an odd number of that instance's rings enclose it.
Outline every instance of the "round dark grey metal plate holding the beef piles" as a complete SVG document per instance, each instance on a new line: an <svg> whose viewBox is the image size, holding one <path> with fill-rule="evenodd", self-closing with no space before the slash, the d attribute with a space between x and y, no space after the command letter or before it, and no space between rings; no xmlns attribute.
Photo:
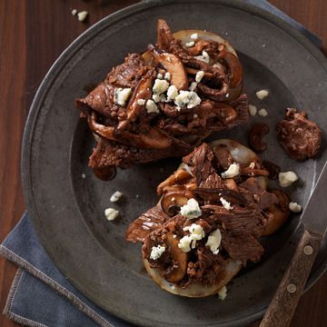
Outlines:
<svg viewBox="0 0 327 327"><path fill-rule="evenodd" d="M108 312L144 326L237 326L260 318L289 263L298 241L299 220L263 240L263 261L249 266L228 287L228 297L186 299L161 291L144 273L140 246L124 241L134 218L156 203L155 186L173 172L178 160L134 166L104 183L87 167L94 141L79 121L74 98L84 86L99 83L124 55L141 52L155 40L155 24L165 18L173 30L198 28L227 38L240 54L250 103L269 112L249 124L218 134L246 144L255 121L270 125L263 154L282 170L295 171L300 183L292 199L304 204L326 160L292 161L276 143L274 124L287 106L305 110L327 131L327 65L322 54L300 33L273 15L242 1L151 1L104 18L74 41L41 84L25 127L22 173L25 200L41 242L74 286ZM254 93L266 88L259 101ZM323 144L324 147L324 144ZM83 178L85 174L85 178ZM114 191L122 203L110 203ZM121 218L109 223L104 208ZM319 208L318 208L319 210ZM327 244L312 270L311 286L326 270Z"/></svg>

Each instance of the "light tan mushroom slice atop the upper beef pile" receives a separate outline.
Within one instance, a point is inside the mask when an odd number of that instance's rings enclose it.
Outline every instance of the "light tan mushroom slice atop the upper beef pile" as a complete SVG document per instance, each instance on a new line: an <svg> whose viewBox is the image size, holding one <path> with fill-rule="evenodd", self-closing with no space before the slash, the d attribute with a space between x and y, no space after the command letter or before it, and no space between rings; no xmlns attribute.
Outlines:
<svg viewBox="0 0 327 327"><path fill-rule="evenodd" d="M174 54L168 53L154 53L154 57L156 62L162 64L163 68L171 74L171 84L175 85L177 90L186 90L188 87L188 80L181 59Z"/></svg>

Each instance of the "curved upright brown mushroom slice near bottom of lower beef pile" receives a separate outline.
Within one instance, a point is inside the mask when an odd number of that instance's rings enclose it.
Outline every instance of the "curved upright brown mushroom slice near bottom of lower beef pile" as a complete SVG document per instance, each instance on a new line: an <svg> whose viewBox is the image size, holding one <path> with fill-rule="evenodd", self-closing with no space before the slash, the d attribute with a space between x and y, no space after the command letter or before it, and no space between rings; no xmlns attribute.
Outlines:
<svg viewBox="0 0 327 327"><path fill-rule="evenodd" d="M178 247L179 239L174 238L173 233L165 234L164 243L172 256L173 264L163 272L163 276L168 282L180 282L186 273L188 255Z"/></svg>

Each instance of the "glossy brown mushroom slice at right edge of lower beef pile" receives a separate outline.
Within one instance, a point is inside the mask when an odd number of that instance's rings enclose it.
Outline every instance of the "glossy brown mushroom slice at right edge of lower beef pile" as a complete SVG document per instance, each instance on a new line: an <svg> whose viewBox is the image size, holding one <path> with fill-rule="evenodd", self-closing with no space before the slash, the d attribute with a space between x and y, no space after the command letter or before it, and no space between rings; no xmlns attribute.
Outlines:
<svg viewBox="0 0 327 327"><path fill-rule="evenodd" d="M282 190L272 190L272 193L277 195L280 203L270 205L268 209L268 222L263 231L263 236L268 236L278 231L291 213L288 208L290 203L288 195L282 192Z"/></svg>

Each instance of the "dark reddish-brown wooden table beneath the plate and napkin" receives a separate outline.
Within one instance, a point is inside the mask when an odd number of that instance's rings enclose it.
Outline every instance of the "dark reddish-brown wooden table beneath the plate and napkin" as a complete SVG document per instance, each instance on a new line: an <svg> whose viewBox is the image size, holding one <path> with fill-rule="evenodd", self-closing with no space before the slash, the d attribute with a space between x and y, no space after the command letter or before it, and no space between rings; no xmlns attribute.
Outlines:
<svg viewBox="0 0 327 327"><path fill-rule="evenodd" d="M25 118L38 84L64 48L105 15L134 0L0 0L0 242L15 226L25 203L20 180L20 148ZM271 0L327 43L326 0ZM80 23L72 9L86 10ZM0 257L0 311L15 265ZM292 327L327 325L327 274L307 292ZM259 322L251 327L258 326ZM0 326L18 326L0 315Z"/></svg>

